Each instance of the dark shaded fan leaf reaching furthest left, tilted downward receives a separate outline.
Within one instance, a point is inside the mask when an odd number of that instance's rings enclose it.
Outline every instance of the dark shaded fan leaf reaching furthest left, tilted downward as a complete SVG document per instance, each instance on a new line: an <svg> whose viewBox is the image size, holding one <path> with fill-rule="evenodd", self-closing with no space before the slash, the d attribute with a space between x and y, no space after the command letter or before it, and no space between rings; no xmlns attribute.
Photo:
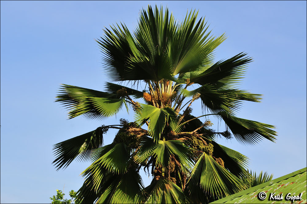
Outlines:
<svg viewBox="0 0 307 204"><path fill-rule="evenodd" d="M94 131L57 143L53 146L57 170L66 168L74 159L87 161L93 151L103 145L103 131L99 127Z"/></svg>

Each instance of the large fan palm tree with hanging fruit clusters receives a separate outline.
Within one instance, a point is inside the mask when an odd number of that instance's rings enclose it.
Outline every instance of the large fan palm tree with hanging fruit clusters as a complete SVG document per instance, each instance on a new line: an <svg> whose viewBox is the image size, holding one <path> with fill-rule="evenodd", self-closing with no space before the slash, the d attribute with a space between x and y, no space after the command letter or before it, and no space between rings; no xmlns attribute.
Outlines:
<svg viewBox="0 0 307 204"><path fill-rule="evenodd" d="M239 53L216 61L213 52L226 37L212 36L197 13L177 22L167 9L148 6L133 33L125 24L105 29L97 43L110 80L106 91L61 86L56 101L69 118L106 119L122 108L135 113L133 122L121 119L54 145L57 169L92 160L77 192L82 202L206 203L247 187L247 157L216 143L217 137L233 134L252 145L274 142L277 134L272 125L235 116L242 101L261 99L237 87L251 58ZM207 114L192 115L196 100ZM223 120L227 130L215 132L210 120L200 120L205 116ZM109 128L119 131L103 146ZM147 187L141 169L153 175Z"/></svg>

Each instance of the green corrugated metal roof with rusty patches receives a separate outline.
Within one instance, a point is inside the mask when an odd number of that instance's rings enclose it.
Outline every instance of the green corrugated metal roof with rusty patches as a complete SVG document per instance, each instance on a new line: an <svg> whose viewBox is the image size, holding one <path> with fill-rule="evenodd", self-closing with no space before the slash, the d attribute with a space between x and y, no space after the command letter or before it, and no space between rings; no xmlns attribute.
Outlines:
<svg viewBox="0 0 307 204"><path fill-rule="evenodd" d="M303 168L211 203L307 203L306 169ZM261 192L266 194L266 198L263 200L258 198L258 196L265 195ZM288 193L291 193L291 196L300 196L303 193L302 199L295 200L294 202L287 200L286 196ZM279 195L280 198L283 196L283 198L281 200L270 200L271 194L274 194L273 196Z"/></svg>

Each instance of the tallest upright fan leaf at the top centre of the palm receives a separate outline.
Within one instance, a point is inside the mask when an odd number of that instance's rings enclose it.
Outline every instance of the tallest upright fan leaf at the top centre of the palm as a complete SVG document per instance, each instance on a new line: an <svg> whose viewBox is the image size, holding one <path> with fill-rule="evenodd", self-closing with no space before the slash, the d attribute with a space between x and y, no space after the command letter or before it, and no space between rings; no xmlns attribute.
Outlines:
<svg viewBox="0 0 307 204"><path fill-rule="evenodd" d="M147 12L142 10L138 27L134 32L136 41L141 45L141 53L144 53L143 59L133 63L135 70L140 70L139 66L145 69L145 73L139 72L139 75L150 75L149 79L154 81L173 78L172 62L167 49L176 29L175 23L173 15L169 16L168 10L163 14L162 7L160 12L157 6L155 10L151 6L148 6Z"/></svg>

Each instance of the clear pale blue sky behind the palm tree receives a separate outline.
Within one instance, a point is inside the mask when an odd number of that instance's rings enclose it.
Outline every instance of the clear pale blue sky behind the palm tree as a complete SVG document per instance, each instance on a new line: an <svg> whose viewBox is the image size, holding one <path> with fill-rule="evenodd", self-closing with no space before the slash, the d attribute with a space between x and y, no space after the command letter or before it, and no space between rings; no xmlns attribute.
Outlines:
<svg viewBox="0 0 307 204"><path fill-rule="evenodd" d="M228 36L216 50L218 60L240 52L254 58L241 88L264 99L244 103L238 116L275 125L277 143L218 142L274 178L306 167L306 1L1 1L1 203L50 203L56 189L65 186L67 196L78 190L89 163L56 171L52 145L120 118L132 120L132 112L105 121L66 120L54 97L62 83L103 90L94 39L116 22L133 29L148 4L168 6L177 20L199 10L214 34ZM114 134L104 136L106 144Z"/></svg>

